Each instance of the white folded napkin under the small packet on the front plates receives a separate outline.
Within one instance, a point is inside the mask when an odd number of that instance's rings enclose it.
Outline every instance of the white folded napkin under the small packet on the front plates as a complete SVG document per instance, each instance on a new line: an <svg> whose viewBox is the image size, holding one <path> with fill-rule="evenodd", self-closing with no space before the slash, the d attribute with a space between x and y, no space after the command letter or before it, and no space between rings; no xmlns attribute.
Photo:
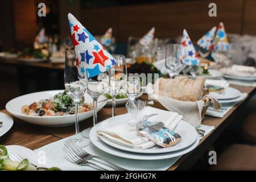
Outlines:
<svg viewBox="0 0 256 182"><path fill-rule="evenodd" d="M149 121L160 121L164 123L164 126L171 130L177 126L177 124L183 118L178 113L156 109L154 107L146 106L141 111L142 115L158 114L154 115ZM126 147L146 149L155 145L145 137L139 137L136 126L130 126L130 121L118 126L109 127L107 129L98 130L98 137L103 137L111 142L121 144Z"/></svg>

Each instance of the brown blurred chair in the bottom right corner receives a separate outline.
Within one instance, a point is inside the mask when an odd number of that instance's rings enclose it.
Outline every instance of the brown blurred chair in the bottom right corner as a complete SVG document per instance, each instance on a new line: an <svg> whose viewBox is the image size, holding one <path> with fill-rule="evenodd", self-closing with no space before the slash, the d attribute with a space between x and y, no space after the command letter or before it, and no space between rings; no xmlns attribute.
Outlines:
<svg viewBox="0 0 256 182"><path fill-rule="evenodd" d="M210 169L214 171L254 171L256 170L256 147L233 144L217 155L217 165L213 165Z"/></svg>

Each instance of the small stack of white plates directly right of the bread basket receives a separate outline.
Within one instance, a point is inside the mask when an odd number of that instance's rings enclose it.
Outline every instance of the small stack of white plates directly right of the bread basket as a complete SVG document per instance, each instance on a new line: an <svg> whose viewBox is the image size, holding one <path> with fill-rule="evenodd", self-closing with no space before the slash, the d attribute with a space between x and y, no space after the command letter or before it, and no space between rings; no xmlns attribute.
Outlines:
<svg viewBox="0 0 256 182"><path fill-rule="evenodd" d="M222 92L221 94L216 92L210 92L209 96L217 98L217 100L221 104L231 104L235 102L240 102L244 98L243 94L239 90L232 87L226 88L224 92Z"/></svg>

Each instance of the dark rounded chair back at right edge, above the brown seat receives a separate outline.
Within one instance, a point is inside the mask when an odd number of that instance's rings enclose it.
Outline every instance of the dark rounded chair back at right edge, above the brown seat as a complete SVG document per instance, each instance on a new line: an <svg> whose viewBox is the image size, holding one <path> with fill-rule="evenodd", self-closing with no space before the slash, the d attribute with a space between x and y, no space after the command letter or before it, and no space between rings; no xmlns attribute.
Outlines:
<svg viewBox="0 0 256 182"><path fill-rule="evenodd" d="M245 118L242 125L242 138L249 144L256 144L256 113Z"/></svg>

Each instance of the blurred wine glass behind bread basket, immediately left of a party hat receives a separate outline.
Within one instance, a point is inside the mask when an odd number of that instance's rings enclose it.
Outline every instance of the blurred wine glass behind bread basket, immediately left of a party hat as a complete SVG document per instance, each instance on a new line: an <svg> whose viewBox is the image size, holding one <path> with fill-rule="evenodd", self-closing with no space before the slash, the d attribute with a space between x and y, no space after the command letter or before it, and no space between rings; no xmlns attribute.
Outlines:
<svg viewBox="0 0 256 182"><path fill-rule="evenodd" d="M166 45L166 68L170 78L177 76L179 73L179 44Z"/></svg>

